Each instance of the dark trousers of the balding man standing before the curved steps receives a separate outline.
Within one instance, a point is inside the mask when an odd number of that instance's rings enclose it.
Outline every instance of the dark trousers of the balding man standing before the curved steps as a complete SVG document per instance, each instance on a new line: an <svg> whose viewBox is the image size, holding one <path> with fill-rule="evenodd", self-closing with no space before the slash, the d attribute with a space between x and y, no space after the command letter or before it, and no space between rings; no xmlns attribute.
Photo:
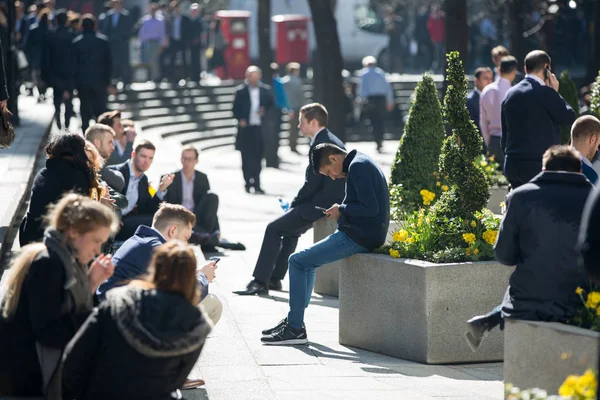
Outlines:
<svg viewBox="0 0 600 400"><path fill-rule="evenodd" d="M242 173L246 187L260 188L260 171L262 170L262 156L264 141L260 126L247 126L240 128L236 138L236 148L242 154Z"/></svg>

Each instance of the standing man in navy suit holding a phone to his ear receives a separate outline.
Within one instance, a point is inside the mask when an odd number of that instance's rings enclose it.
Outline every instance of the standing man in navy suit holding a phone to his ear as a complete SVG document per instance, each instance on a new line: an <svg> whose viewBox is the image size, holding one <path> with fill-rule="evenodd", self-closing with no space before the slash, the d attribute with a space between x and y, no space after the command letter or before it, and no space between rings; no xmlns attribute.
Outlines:
<svg viewBox="0 0 600 400"><path fill-rule="evenodd" d="M525 79L513 86L502 103L504 175L517 188L539 174L542 155L560 144L560 126L571 126L575 111L558 94L550 56L535 50L525 57Z"/></svg>

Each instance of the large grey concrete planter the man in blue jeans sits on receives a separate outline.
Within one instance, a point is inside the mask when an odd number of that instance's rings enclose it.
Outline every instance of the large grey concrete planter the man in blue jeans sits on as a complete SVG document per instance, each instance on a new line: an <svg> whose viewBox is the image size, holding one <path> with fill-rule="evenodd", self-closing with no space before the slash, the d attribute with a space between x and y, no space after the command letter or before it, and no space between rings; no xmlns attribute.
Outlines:
<svg viewBox="0 0 600 400"><path fill-rule="evenodd" d="M497 306L513 268L497 262L433 264L357 254L340 270L340 344L426 364L500 361L503 333L477 352L466 321Z"/></svg>

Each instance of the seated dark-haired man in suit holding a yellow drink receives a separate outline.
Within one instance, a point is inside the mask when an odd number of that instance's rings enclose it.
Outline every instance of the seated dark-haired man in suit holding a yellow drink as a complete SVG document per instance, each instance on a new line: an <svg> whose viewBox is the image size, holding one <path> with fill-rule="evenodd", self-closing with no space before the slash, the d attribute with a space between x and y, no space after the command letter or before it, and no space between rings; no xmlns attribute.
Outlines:
<svg viewBox="0 0 600 400"><path fill-rule="evenodd" d="M127 208L123 210L123 226L117 234L117 240L130 238L140 225L150 225L156 210L165 198L166 190L173 182L173 174L164 175L155 194L150 192L148 171L154 160L156 147L149 140L140 140L134 144L131 160L110 166L121 172L125 187L121 191L127 197Z"/></svg>

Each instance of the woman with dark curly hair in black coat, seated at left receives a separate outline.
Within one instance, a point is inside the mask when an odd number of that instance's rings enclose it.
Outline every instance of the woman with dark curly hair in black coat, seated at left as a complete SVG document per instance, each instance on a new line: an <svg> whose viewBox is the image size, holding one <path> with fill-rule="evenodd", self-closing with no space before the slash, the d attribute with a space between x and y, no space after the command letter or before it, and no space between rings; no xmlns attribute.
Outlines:
<svg viewBox="0 0 600 400"><path fill-rule="evenodd" d="M77 134L57 135L46 146L46 168L33 181L29 210L19 228L19 243L25 246L44 236L42 217L46 209L69 191L90 195L97 185L85 153L85 140Z"/></svg>

